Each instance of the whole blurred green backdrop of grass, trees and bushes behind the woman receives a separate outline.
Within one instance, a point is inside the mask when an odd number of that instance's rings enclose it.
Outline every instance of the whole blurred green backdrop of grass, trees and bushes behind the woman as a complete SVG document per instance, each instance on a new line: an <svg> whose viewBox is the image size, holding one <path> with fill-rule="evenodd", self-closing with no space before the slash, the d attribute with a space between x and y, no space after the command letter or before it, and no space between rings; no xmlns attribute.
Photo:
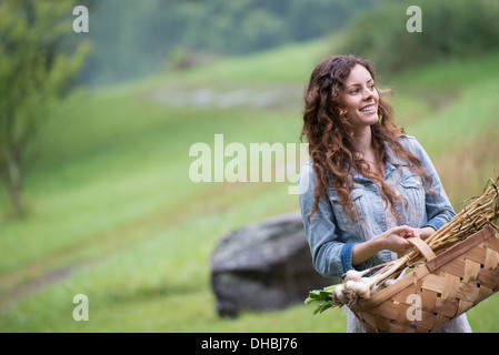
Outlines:
<svg viewBox="0 0 499 355"><path fill-rule="evenodd" d="M312 69L357 53L459 211L499 168L498 17L490 0L2 1L0 331L346 332L342 310L300 304L218 317L220 236L298 199L289 183L193 183L189 148L298 143ZM499 297L468 317L499 331Z"/></svg>

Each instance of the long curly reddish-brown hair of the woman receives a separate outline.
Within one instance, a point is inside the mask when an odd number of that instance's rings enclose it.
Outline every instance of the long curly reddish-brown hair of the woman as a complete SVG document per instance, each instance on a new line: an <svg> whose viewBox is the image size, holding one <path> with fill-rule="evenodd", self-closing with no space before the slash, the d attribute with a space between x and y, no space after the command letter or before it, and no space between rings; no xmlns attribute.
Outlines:
<svg viewBox="0 0 499 355"><path fill-rule="evenodd" d="M383 181L382 176L369 169L366 160L359 158L361 155L355 149L352 126L345 115L345 82L357 64L365 67L375 80L375 71L367 60L352 54L333 55L316 67L305 92L303 128L300 141L303 141L303 136L307 138L313 172L317 176L313 207L308 215L309 222L310 216L317 212L319 199L326 193L331 180L333 189L339 194L339 203L343 212L352 221L360 219L350 199L355 171L378 184L386 205L390 206L393 215L398 215L393 205L397 200L401 202L401 197ZM389 92L379 88L377 90L379 93ZM419 159L399 142L400 138L405 136L403 129L396 124L392 106L381 94L378 101L378 116L379 121L371 125L371 136L379 165L385 166L388 159L386 146L388 144L397 158L406 161L411 172L421 178L425 189L429 191L431 176L425 172ZM407 201L403 200L403 202L407 205Z"/></svg>

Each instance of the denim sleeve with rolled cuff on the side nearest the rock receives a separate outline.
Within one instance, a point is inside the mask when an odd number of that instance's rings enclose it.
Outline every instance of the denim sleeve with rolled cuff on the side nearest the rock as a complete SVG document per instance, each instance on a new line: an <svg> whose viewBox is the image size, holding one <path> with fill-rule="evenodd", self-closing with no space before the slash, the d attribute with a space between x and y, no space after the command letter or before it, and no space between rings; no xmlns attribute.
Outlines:
<svg viewBox="0 0 499 355"><path fill-rule="evenodd" d="M310 246L313 267L321 275L337 277L352 268L351 254L356 243L339 240L336 216L327 196L321 196L317 213L308 215L313 207L316 179L311 163L302 166L299 176L299 204L303 219L305 233Z"/></svg>

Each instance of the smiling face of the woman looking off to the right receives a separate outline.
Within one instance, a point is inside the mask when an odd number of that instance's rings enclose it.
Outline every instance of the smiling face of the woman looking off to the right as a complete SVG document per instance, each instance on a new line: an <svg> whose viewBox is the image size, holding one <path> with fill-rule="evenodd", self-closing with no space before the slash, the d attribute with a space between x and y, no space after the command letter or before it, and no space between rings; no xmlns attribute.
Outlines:
<svg viewBox="0 0 499 355"><path fill-rule="evenodd" d="M345 108L355 131L378 122L379 94L369 71L356 64L345 81Z"/></svg>

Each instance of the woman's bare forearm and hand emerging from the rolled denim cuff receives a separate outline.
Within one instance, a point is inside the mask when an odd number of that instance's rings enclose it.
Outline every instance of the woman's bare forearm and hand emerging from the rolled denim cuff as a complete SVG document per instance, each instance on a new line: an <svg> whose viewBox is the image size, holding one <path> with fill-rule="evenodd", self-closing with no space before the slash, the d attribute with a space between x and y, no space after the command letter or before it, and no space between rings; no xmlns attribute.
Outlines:
<svg viewBox="0 0 499 355"><path fill-rule="evenodd" d="M426 229L412 229L408 225L389 229L367 242L357 244L352 251L351 264L359 265L382 250L405 254L412 247L412 244L407 241L408 237L421 237L422 235L428 237L429 232Z"/></svg>

